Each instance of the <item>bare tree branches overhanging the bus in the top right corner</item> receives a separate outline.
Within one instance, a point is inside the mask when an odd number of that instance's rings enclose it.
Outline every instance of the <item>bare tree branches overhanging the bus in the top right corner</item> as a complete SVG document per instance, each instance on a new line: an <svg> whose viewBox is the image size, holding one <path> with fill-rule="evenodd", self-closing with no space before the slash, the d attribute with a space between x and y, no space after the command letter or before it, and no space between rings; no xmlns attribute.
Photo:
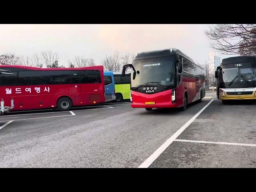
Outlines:
<svg viewBox="0 0 256 192"><path fill-rule="evenodd" d="M205 34L211 47L224 54L256 54L256 24L217 24Z"/></svg>

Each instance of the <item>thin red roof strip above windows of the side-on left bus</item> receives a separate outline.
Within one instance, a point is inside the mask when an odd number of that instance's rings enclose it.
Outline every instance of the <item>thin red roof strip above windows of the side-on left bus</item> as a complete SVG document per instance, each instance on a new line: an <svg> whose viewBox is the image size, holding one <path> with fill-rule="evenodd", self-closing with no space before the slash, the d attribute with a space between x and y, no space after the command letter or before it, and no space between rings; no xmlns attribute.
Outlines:
<svg viewBox="0 0 256 192"><path fill-rule="evenodd" d="M23 71L26 70L36 70L36 71L51 71L51 70L103 70L103 66L90 66L90 67L81 67L81 68L40 68L40 67L29 67L22 65L0 65L0 68L17 68Z"/></svg>

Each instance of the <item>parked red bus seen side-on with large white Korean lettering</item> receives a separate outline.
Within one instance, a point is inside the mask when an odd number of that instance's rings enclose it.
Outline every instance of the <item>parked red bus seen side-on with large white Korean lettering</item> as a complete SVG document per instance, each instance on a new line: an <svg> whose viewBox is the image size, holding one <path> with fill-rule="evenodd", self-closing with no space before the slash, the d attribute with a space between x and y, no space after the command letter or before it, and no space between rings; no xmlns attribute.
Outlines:
<svg viewBox="0 0 256 192"><path fill-rule="evenodd" d="M0 76L0 97L15 110L86 106L105 102L103 66L38 68L1 65L12 74Z"/></svg>

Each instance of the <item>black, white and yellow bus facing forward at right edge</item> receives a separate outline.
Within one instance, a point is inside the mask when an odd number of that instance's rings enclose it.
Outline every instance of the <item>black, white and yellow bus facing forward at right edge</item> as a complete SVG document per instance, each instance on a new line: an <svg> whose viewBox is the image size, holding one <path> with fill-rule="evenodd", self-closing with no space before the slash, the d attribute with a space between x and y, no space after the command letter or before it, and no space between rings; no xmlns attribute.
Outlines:
<svg viewBox="0 0 256 192"><path fill-rule="evenodd" d="M256 99L256 56L238 56L222 60L215 72L217 97L228 100Z"/></svg>

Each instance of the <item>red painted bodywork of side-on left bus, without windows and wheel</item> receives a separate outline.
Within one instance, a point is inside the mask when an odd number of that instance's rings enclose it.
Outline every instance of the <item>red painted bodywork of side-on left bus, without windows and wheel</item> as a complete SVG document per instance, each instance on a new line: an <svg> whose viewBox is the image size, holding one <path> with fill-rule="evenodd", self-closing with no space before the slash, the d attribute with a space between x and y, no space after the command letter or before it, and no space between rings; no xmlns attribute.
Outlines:
<svg viewBox="0 0 256 192"><path fill-rule="evenodd" d="M2 65L0 68L21 68L28 70L100 70L101 83L89 84L51 84L51 85L26 85L26 86L0 86L0 98L4 99L5 106L11 106L14 99L15 110L31 110L43 108L56 108L61 97L69 97L73 106L86 106L105 102L103 66L83 68L37 68L28 66ZM40 92L39 89L40 88ZM11 89L11 94L6 94L6 89ZM18 91L16 91L18 89ZM30 90L29 90L30 89Z"/></svg>

